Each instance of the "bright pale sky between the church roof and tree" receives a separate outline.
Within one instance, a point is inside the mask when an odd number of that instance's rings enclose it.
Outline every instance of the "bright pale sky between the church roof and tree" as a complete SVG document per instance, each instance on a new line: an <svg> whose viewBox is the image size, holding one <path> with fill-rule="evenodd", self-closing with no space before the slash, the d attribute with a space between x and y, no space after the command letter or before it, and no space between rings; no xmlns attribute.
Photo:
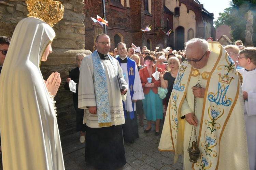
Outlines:
<svg viewBox="0 0 256 170"><path fill-rule="evenodd" d="M224 9L229 7L230 1L231 0L199 0L205 10L214 14L214 21L217 20L220 12L224 12Z"/></svg>

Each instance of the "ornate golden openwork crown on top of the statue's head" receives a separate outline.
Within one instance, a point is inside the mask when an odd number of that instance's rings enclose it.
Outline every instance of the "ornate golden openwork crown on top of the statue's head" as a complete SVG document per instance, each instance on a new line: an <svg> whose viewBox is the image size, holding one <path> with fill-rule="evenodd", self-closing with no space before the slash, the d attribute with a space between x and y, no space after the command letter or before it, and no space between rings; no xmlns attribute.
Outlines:
<svg viewBox="0 0 256 170"><path fill-rule="evenodd" d="M63 18L64 6L59 1L53 0L27 0L28 17L42 19L53 27Z"/></svg>

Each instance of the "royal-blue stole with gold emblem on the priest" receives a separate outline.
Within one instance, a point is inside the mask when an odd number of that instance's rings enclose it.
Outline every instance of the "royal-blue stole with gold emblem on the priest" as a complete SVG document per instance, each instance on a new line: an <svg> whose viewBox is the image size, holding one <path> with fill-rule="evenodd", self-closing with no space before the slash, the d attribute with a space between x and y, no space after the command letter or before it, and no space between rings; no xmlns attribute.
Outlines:
<svg viewBox="0 0 256 170"><path fill-rule="evenodd" d="M121 66L120 58L117 57L116 60L119 62L120 66ZM128 88L130 90L131 99L134 94L134 91L133 91L133 84L134 84L134 79L135 79L134 69L137 69L137 68L134 68L135 65L136 65L135 62L133 60L131 60L129 57L127 57L127 72L128 72L128 79L129 79L129 83L128 83L129 87ZM124 107L124 113L125 113L125 119L126 119L127 115L126 115L124 101L123 101L123 107ZM134 103L132 102L132 112L130 112L130 119L133 119L133 118L134 118Z"/></svg>

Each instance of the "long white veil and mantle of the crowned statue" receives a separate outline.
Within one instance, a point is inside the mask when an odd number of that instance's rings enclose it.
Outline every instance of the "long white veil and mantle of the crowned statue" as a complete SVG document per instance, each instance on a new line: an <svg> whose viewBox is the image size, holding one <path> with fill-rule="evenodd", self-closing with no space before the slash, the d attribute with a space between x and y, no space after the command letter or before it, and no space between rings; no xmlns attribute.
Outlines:
<svg viewBox="0 0 256 170"><path fill-rule="evenodd" d="M54 101L40 71L54 37L34 17L21 20L13 33L0 77L3 169L65 169Z"/></svg>

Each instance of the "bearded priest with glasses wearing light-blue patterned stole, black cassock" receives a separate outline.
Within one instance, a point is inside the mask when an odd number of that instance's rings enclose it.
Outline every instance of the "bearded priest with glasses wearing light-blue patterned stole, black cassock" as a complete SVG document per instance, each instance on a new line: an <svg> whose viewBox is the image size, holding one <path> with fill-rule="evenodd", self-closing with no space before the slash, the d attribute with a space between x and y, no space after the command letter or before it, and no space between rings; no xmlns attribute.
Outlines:
<svg viewBox="0 0 256 170"><path fill-rule="evenodd" d="M87 125L86 166L117 169L126 164L122 98L128 86L118 61L108 55L109 36L99 34L95 45L97 50L81 63L78 88L78 107L85 109Z"/></svg>

